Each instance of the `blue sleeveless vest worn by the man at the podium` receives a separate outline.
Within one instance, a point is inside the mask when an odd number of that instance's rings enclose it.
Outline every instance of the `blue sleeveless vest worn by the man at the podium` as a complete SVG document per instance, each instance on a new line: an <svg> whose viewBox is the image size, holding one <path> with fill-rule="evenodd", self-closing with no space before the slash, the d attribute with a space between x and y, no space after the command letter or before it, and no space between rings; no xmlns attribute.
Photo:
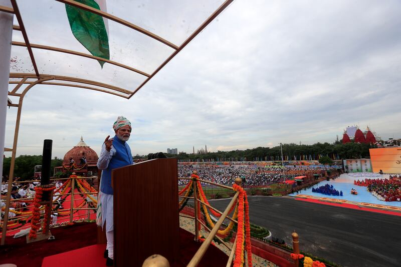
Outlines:
<svg viewBox="0 0 401 267"><path fill-rule="evenodd" d="M114 136L113 147L116 149L116 154L111 158L107 168L102 171L100 183L100 190L109 195L113 194L111 170L133 164L131 149L127 142L121 141L117 136Z"/></svg>

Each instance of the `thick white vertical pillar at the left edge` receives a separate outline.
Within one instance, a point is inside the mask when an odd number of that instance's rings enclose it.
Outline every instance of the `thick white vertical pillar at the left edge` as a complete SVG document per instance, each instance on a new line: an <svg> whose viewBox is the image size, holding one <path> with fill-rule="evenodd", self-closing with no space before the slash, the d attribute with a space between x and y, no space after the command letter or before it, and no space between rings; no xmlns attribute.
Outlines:
<svg viewBox="0 0 401 267"><path fill-rule="evenodd" d="M0 0L0 6L13 7L10 0ZM6 134L13 19L13 14L0 12L0 183L3 182L3 156Z"/></svg>

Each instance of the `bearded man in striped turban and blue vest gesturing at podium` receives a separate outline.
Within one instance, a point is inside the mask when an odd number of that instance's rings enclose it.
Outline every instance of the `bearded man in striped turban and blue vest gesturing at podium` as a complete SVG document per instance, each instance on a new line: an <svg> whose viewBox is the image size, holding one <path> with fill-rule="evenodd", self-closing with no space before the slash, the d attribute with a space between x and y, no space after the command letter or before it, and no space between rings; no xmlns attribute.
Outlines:
<svg viewBox="0 0 401 267"><path fill-rule="evenodd" d="M123 116L119 116L113 124L115 136L106 137L102 145L97 167L102 171L97 208L96 222L104 226L106 222L107 246L104 256L106 265L113 266L114 233L113 233L113 188L111 187L111 171L115 168L133 164L131 149L127 141L131 135L131 123Z"/></svg>

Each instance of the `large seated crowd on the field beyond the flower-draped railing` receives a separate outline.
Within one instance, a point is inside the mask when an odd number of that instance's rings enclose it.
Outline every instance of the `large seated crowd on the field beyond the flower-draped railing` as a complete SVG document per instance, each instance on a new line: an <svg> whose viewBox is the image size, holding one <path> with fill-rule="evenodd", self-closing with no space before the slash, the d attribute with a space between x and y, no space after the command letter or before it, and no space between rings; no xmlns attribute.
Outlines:
<svg viewBox="0 0 401 267"><path fill-rule="evenodd" d="M319 174L320 169L294 167L257 167L254 165L187 165L178 164L178 177L189 177L196 170L200 179L219 184L233 184L236 177L242 177L245 186L261 186L274 182L283 182L296 176ZM178 180L179 185L186 184L187 180Z"/></svg>

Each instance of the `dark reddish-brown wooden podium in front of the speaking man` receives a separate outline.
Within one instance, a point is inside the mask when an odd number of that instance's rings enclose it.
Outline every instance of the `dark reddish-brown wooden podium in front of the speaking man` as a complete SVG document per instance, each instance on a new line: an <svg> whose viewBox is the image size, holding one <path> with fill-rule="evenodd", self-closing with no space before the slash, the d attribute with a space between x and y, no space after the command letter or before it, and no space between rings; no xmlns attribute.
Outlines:
<svg viewBox="0 0 401 267"><path fill-rule="evenodd" d="M114 266L142 266L152 254L178 258L177 160L114 169Z"/></svg>

